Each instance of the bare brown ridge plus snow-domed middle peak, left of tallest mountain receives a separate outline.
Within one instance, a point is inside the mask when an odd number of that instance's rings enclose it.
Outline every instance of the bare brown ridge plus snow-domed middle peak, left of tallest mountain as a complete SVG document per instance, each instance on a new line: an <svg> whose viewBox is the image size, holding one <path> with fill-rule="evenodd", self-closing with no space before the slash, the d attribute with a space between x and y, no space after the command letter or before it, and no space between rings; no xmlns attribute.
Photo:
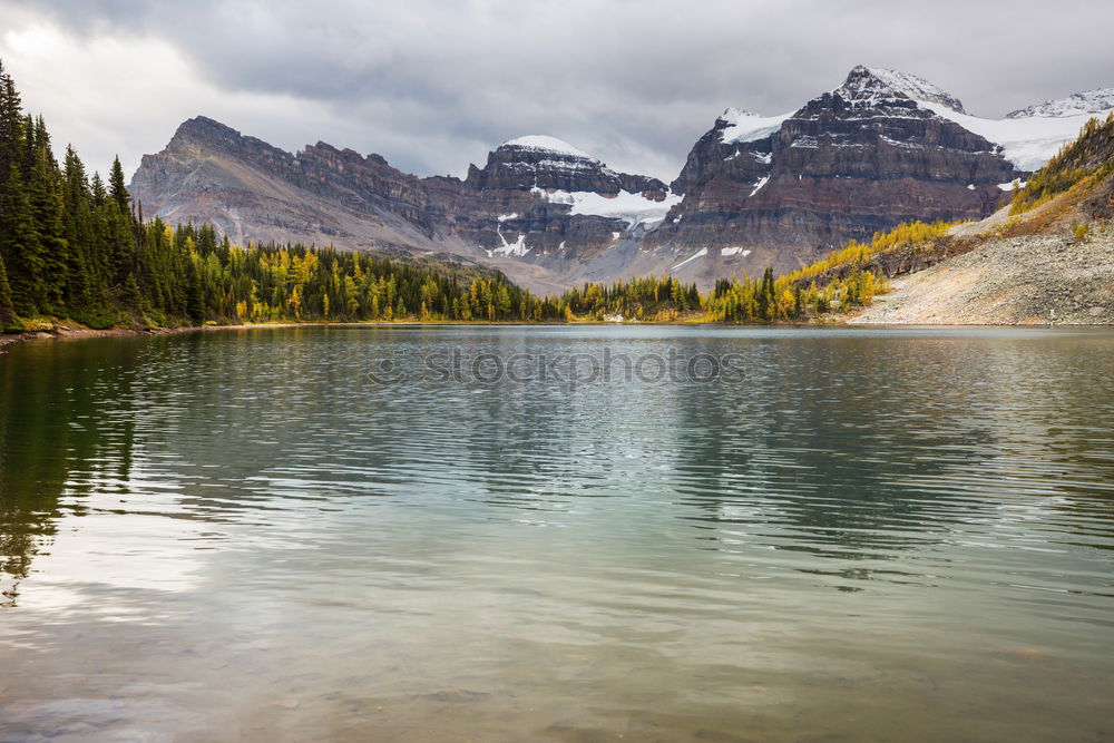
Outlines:
<svg viewBox="0 0 1114 743"><path fill-rule="evenodd" d="M130 190L148 215L209 222L237 243L443 252L498 267L536 292L626 275L625 261L610 267L612 248L680 201L656 178L616 173L548 136L500 145L463 180L419 178L379 155L324 143L286 153L205 117L145 155ZM607 267L593 270L599 262Z"/></svg>

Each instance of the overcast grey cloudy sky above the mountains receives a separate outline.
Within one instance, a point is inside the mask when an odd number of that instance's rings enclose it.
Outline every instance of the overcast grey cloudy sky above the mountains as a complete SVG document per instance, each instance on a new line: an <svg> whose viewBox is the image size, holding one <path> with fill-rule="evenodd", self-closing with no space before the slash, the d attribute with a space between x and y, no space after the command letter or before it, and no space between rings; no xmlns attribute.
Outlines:
<svg viewBox="0 0 1114 743"><path fill-rule="evenodd" d="M793 110L857 63L981 116L1114 87L1112 28L1076 0L0 0L0 59L101 170L202 114L421 175L549 134L672 179L725 107Z"/></svg>

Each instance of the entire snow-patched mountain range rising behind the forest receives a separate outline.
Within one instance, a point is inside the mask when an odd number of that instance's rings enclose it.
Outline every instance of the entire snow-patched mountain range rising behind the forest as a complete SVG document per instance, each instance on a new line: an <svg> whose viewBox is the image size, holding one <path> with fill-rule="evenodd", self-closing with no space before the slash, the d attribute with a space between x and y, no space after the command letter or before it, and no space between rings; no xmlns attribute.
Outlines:
<svg viewBox="0 0 1114 743"><path fill-rule="evenodd" d="M130 188L147 214L212 222L241 243L446 252L536 292L663 272L710 286L902 221L981 218L1114 107L1108 94L994 120L922 78L856 67L795 111L727 109L668 185L547 135L501 144L463 179L421 178L379 155L286 153L197 117L144 156Z"/></svg>

